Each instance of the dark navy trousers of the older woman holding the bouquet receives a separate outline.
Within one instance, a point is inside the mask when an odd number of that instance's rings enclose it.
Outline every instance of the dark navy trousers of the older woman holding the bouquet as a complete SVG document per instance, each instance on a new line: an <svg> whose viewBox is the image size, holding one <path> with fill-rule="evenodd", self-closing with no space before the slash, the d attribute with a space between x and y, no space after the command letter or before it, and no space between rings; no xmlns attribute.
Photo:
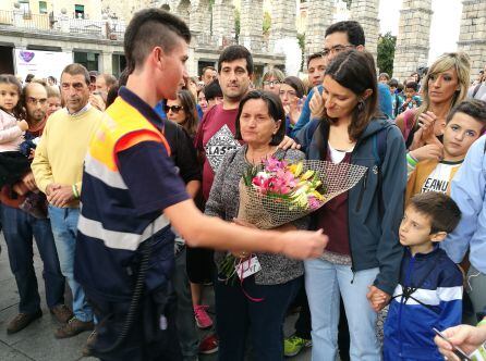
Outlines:
<svg viewBox="0 0 486 361"><path fill-rule="evenodd" d="M246 335L252 336L255 361L283 360L283 322L287 310L299 292L302 277L281 285L256 285L255 278L245 278L243 287L254 298L243 294L242 286L229 286L215 281L218 360L243 361Z"/></svg>

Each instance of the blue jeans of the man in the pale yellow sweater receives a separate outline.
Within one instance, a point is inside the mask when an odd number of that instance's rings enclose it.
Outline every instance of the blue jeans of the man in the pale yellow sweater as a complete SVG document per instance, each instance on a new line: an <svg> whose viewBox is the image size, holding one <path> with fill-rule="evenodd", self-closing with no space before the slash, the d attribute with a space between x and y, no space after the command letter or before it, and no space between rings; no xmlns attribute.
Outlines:
<svg viewBox="0 0 486 361"><path fill-rule="evenodd" d="M93 310L87 303L81 285L74 281L74 250L76 246L77 219L80 209L49 206L49 216L58 249L61 272L68 279L73 292L73 312L77 320L93 321Z"/></svg>

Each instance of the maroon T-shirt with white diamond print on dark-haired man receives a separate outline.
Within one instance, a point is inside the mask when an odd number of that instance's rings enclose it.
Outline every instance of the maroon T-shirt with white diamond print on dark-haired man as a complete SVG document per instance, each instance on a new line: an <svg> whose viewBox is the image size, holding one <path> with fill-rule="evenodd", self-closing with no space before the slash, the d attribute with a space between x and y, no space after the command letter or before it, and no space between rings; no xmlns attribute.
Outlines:
<svg viewBox="0 0 486 361"><path fill-rule="evenodd" d="M240 147L234 139L238 109L224 110L222 104L212 107L203 117L194 138L197 151L204 153L203 197L209 198L215 173L224 155Z"/></svg>

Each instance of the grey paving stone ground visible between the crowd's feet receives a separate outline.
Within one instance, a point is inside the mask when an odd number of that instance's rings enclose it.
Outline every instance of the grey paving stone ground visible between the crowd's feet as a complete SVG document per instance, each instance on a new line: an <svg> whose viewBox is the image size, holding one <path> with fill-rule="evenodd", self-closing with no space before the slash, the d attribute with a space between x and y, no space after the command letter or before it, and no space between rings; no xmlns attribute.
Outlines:
<svg viewBox="0 0 486 361"><path fill-rule="evenodd" d="M0 235L0 246L2 248L0 254L0 361L96 361L97 359L95 358L83 358L81 353L81 348L86 341L89 335L88 333L83 333L68 339L54 338L53 332L59 327L59 323L49 313L46 306L44 279L41 276L42 264L36 247L34 247L34 266L39 283L44 316L17 334L7 335L7 324L17 313L19 294L15 279L10 271L3 235ZM208 303L211 307L210 311L214 311L214 295L210 287L205 289L205 295L208 297ZM69 299L69 295L66 295L66 298ZM294 322L295 315L287 320L285 335L292 333ZM202 336L208 333L207 331L202 332ZM199 360L216 361L217 356L202 356ZM311 360L311 352L307 349L297 357L289 360Z"/></svg>

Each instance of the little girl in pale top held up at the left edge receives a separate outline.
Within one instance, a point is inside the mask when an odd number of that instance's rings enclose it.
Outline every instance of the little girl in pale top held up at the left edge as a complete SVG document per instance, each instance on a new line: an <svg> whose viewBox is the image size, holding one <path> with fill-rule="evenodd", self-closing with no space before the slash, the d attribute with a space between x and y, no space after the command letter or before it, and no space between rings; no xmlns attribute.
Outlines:
<svg viewBox="0 0 486 361"><path fill-rule="evenodd" d="M20 102L22 85L13 75L0 75L0 188L12 186L17 195L27 189L19 180L31 170L32 151L38 139L24 139L28 123ZM36 217L46 216L39 195L29 192L20 208ZM41 198L41 197L40 197Z"/></svg>

